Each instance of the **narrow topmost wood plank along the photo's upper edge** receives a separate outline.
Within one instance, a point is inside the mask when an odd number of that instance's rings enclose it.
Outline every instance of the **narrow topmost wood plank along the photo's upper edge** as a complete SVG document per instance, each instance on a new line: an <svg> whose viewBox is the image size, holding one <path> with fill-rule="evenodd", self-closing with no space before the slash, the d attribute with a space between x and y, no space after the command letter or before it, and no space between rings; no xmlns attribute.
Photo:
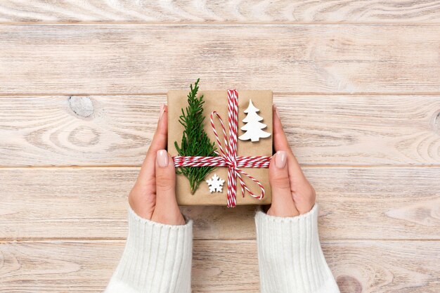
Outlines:
<svg viewBox="0 0 440 293"><path fill-rule="evenodd" d="M19 1L3 0L1 22L439 22L435 0Z"/></svg>

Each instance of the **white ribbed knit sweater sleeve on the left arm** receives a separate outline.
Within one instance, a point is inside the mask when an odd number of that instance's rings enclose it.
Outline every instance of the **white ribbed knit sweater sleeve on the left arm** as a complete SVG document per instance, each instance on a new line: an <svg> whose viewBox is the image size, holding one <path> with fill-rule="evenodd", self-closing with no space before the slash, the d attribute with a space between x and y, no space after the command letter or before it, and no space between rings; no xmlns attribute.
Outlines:
<svg viewBox="0 0 440 293"><path fill-rule="evenodd" d="M189 293L193 222L155 223L129 208L129 235L104 293Z"/></svg>

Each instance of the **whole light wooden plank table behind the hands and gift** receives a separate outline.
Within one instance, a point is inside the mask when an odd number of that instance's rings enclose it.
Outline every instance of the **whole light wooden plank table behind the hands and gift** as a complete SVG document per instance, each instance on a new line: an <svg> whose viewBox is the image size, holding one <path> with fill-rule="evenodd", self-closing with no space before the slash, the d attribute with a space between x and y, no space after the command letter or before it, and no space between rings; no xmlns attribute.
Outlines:
<svg viewBox="0 0 440 293"><path fill-rule="evenodd" d="M440 1L0 3L0 292L101 292L168 89L272 89L341 292L440 292ZM254 207L186 207L258 292Z"/></svg>

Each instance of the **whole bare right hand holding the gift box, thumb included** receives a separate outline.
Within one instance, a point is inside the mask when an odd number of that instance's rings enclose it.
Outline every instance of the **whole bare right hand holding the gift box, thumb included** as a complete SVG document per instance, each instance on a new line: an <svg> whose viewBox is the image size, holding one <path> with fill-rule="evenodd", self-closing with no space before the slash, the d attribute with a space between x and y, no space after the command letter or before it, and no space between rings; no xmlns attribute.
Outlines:
<svg viewBox="0 0 440 293"><path fill-rule="evenodd" d="M299 167L297 158L289 148L276 107L273 108L273 155L269 167L272 204L271 216L297 216L310 211L315 204L315 190Z"/></svg>

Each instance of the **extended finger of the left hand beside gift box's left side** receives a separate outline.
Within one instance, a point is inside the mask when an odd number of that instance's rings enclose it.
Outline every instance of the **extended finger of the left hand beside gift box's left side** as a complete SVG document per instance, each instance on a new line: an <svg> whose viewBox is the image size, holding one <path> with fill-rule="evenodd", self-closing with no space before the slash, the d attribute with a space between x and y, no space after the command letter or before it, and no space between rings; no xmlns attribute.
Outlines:
<svg viewBox="0 0 440 293"><path fill-rule="evenodd" d="M139 172L136 183L145 185L145 183L155 182L155 161L158 150L167 148L167 133L168 133L168 117L167 105L162 105L160 110L159 121L157 122L157 129L153 136L153 140L148 148L147 155L143 160L141 171Z"/></svg>

